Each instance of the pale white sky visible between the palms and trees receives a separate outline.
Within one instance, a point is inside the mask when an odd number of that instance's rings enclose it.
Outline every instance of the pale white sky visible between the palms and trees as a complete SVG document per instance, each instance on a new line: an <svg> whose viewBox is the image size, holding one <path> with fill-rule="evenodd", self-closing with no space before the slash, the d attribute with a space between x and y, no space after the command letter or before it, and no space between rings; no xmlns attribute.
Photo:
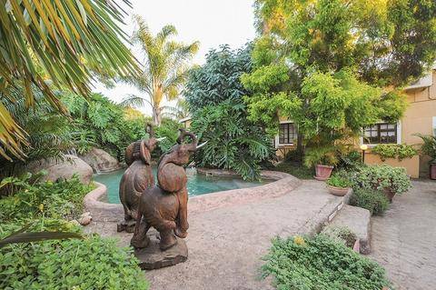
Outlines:
<svg viewBox="0 0 436 290"><path fill-rule="evenodd" d="M128 8L124 17L125 33L132 35L135 25L132 15L142 15L152 32L157 33L163 25L174 25L178 31L177 41L190 44L200 42L200 50L193 58L193 64L203 65L210 49L228 44L233 48L244 45L255 35L253 0L131 0L133 9ZM137 49L134 55L141 59ZM99 92L114 102L121 102L126 95L142 95L134 86L116 84L113 89L94 84ZM164 102L163 105L173 105ZM150 107L140 109L151 115Z"/></svg>

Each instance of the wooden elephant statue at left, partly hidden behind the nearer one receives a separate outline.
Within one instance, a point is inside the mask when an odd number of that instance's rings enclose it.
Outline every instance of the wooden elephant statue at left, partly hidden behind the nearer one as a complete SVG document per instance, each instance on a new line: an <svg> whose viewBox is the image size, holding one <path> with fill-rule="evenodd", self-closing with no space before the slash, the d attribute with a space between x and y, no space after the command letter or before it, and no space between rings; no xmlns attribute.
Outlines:
<svg viewBox="0 0 436 290"><path fill-rule="evenodd" d="M152 152L157 143L164 138L155 138L151 125L147 125L147 132L149 139L136 141L125 149L124 160L129 167L120 182L119 195L124 208L124 221L117 226L118 232L132 232L138 212L139 196L147 187L154 186Z"/></svg>

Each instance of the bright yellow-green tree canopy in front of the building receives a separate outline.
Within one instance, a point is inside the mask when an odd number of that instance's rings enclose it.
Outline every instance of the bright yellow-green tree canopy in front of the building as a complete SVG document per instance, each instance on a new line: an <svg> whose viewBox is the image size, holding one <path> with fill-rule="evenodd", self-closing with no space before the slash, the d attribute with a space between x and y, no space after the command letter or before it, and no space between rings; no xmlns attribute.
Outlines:
<svg viewBox="0 0 436 290"><path fill-rule="evenodd" d="M261 35L254 70L242 76L250 118L272 130L279 116L290 118L300 148L303 136L334 142L398 120L406 108L398 89L436 58L431 1L257 0L255 7Z"/></svg>

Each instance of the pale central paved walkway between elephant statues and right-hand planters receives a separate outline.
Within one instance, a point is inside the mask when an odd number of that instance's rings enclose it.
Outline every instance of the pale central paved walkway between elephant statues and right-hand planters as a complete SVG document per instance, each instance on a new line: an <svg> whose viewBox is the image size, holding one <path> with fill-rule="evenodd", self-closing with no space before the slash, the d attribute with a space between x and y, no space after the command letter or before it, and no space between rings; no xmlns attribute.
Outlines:
<svg viewBox="0 0 436 290"><path fill-rule="evenodd" d="M159 290L272 289L270 279L259 278L272 237L314 231L342 200L322 182L303 181L286 195L191 215L188 261L145 275L151 289ZM114 223L93 223L87 231L116 235L127 244L131 235L117 234L115 228Z"/></svg>

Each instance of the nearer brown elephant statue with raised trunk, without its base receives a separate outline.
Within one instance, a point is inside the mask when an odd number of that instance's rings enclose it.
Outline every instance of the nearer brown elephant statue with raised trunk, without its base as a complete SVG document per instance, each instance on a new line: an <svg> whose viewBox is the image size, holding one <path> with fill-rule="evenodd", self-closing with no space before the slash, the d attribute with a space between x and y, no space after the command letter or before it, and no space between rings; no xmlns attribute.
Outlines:
<svg viewBox="0 0 436 290"><path fill-rule="evenodd" d="M187 176L183 165L200 147L197 138L184 129L179 129L177 144L162 155L157 166L157 185L148 187L140 197L134 236L131 245L144 248L150 243L147 232L154 227L160 234L159 247L162 251L177 243L174 235L184 238L188 230L188 191ZM190 137L190 143L183 143Z"/></svg>

